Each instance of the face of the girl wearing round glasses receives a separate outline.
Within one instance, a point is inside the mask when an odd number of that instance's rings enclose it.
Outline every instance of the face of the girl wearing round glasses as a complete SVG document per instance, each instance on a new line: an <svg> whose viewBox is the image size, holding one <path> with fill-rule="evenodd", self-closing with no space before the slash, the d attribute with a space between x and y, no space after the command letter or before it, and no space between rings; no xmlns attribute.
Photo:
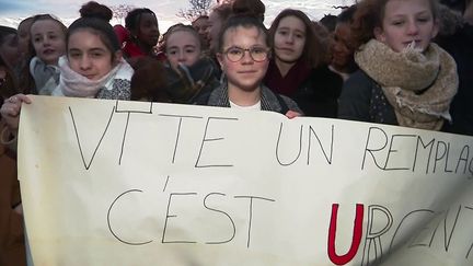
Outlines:
<svg viewBox="0 0 473 266"><path fill-rule="evenodd" d="M227 76L229 89L254 91L259 86L269 63L265 38L256 27L238 26L226 31L222 51L217 54L217 59ZM239 55L242 57L236 60Z"/></svg>

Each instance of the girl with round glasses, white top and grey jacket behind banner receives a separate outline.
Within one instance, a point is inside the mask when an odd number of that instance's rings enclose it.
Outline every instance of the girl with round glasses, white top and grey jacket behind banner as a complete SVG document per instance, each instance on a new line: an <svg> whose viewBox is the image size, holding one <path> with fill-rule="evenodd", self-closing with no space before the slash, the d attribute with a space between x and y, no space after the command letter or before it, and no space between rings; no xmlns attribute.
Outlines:
<svg viewBox="0 0 473 266"><path fill-rule="evenodd" d="M302 114L297 104L262 84L270 58L269 38L261 20L233 16L221 30L217 59L223 83L197 103L241 109L263 109L293 118Z"/></svg>

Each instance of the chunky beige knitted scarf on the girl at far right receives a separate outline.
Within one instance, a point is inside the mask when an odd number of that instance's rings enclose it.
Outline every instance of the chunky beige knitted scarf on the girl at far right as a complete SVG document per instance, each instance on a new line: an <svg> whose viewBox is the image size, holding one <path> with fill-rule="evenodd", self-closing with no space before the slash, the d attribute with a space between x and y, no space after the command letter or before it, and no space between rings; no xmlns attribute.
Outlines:
<svg viewBox="0 0 473 266"><path fill-rule="evenodd" d="M436 44L422 53L401 53L371 39L355 53L355 61L382 89L401 126L439 130L451 120L450 103L459 78L454 59Z"/></svg>

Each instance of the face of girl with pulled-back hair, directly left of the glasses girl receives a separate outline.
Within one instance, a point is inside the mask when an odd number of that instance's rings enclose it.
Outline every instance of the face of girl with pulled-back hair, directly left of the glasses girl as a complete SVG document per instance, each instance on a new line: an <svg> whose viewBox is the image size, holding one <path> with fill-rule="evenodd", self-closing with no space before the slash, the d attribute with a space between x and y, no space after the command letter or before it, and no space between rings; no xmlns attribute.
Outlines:
<svg viewBox="0 0 473 266"><path fill-rule="evenodd" d="M186 31L171 33L166 38L166 57L174 69L178 63L191 67L200 57L199 39Z"/></svg>

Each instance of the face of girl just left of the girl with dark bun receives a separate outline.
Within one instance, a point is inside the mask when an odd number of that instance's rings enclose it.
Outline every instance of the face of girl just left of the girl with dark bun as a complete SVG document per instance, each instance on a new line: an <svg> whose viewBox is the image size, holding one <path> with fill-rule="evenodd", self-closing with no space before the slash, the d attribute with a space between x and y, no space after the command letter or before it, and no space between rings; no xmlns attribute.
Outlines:
<svg viewBox="0 0 473 266"><path fill-rule="evenodd" d="M57 65L66 53L66 35L62 27L53 20L39 20L31 27L31 38L36 56L47 65Z"/></svg>

